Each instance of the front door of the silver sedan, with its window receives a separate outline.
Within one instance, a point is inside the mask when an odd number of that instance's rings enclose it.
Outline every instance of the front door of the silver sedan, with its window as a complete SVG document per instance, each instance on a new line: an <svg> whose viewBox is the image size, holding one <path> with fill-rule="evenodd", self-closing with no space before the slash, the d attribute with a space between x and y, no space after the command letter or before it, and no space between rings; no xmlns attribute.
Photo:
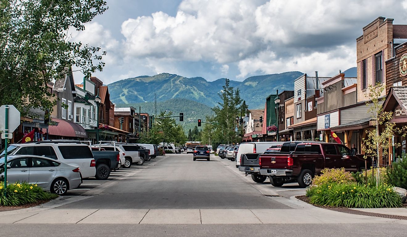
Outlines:
<svg viewBox="0 0 407 237"><path fill-rule="evenodd" d="M19 157L7 162L7 181L9 183L28 182L31 161L29 157ZM4 174L4 173L3 173Z"/></svg>

